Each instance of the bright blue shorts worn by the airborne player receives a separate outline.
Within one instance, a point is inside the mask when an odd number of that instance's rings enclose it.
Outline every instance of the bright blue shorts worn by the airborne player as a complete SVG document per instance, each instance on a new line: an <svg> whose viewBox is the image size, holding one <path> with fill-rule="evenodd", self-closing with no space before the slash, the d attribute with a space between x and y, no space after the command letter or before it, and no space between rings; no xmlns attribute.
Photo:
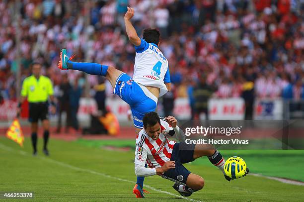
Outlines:
<svg viewBox="0 0 304 202"><path fill-rule="evenodd" d="M138 83L133 81L129 75L123 73L116 81L114 94L130 105L134 126L143 128L144 115L155 111L157 106L157 103L146 95L149 92L145 94Z"/></svg>

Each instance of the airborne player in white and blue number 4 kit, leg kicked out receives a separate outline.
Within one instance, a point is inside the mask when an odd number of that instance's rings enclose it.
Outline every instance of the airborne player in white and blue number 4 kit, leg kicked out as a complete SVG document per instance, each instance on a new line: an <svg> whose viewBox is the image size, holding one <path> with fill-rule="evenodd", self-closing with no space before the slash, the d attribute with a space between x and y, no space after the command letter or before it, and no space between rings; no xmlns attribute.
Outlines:
<svg viewBox="0 0 304 202"><path fill-rule="evenodd" d="M156 29L145 29L143 38L140 38L130 21L133 15L134 9L128 7L125 14L126 31L136 51L133 79L112 66L72 62L73 56L69 58L66 49L60 53L58 67L105 76L113 86L114 94L130 105L138 133L143 128L145 113L155 110L158 97L170 91L171 86L168 61L158 49L159 32ZM144 177L138 177L133 189L137 198L144 196L143 185Z"/></svg>

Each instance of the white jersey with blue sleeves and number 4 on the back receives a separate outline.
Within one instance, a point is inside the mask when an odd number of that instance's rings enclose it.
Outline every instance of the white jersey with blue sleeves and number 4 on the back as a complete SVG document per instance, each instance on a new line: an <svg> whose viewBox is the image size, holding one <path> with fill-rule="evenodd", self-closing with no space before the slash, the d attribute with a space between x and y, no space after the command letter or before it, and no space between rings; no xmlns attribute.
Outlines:
<svg viewBox="0 0 304 202"><path fill-rule="evenodd" d="M163 56L157 45L141 39L135 46L135 64L133 80L144 86L159 88L159 97L168 92L164 83L170 83L168 60Z"/></svg>

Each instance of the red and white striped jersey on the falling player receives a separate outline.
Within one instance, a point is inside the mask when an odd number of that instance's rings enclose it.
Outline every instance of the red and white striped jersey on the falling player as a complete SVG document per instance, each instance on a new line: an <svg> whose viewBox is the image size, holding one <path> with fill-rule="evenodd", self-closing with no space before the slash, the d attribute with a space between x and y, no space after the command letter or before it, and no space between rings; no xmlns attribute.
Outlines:
<svg viewBox="0 0 304 202"><path fill-rule="evenodd" d="M135 164L145 166L146 162L150 168L161 167L169 161L175 141L168 140L167 135L173 136L175 131L163 118L160 118L161 132L157 140L153 140L142 129L136 138Z"/></svg>

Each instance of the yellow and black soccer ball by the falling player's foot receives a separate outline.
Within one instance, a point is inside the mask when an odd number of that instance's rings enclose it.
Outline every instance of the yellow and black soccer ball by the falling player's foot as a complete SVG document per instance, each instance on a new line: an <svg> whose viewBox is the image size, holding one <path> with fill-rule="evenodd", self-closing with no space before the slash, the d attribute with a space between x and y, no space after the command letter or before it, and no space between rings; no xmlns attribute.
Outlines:
<svg viewBox="0 0 304 202"><path fill-rule="evenodd" d="M225 174L231 179L237 179L245 175L246 168L245 161L238 156L228 158L224 165Z"/></svg>

